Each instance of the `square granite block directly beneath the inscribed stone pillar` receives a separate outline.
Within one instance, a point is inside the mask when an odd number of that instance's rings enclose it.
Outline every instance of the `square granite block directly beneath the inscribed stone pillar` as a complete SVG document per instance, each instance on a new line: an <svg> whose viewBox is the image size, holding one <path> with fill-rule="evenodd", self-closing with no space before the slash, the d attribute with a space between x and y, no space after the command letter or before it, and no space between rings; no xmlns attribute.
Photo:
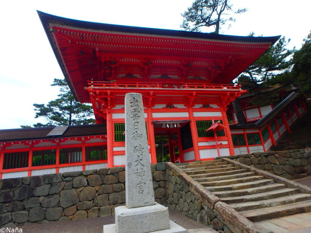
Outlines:
<svg viewBox="0 0 311 233"><path fill-rule="evenodd" d="M158 203L137 208L118 206L114 215L118 233L146 233L169 228L169 210Z"/></svg>

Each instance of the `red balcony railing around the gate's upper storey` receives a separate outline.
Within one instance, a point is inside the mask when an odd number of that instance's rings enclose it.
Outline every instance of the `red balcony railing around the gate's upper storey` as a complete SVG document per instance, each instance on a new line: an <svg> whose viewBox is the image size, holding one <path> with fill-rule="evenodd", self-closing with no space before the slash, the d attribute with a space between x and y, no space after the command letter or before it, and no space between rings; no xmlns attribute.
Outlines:
<svg viewBox="0 0 311 233"><path fill-rule="evenodd" d="M242 90L240 85L233 84L198 84L198 83L142 83L142 82L101 82L89 81L89 88L109 89L209 89L209 90Z"/></svg>

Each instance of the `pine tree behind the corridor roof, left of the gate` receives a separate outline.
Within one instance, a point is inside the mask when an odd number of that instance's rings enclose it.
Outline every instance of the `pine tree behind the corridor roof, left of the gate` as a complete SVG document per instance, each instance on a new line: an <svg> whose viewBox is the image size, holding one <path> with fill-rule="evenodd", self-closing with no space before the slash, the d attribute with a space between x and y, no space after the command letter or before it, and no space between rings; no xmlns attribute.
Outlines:
<svg viewBox="0 0 311 233"><path fill-rule="evenodd" d="M92 106L77 102L72 95L65 79L54 79L51 86L58 86L59 98L50 101L47 105L35 103L35 118L43 117L47 123L37 123L34 127L42 126L70 126L93 124ZM21 126L23 127L23 126ZM25 126L26 127L26 126Z"/></svg>

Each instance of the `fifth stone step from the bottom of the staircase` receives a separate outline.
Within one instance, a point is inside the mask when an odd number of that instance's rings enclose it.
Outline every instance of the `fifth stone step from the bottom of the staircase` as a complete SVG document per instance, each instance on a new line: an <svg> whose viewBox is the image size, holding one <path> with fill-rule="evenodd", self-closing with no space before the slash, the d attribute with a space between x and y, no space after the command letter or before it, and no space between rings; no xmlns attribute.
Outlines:
<svg viewBox="0 0 311 233"><path fill-rule="evenodd" d="M240 183L240 184L233 184L233 185L207 187L206 189L211 192L219 192L219 191L250 189L250 188L255 188L255 187L264 186L264 185L271 185L271 184L274 184L274 180L264 179L264 180L256 180L256 181L245 182L245 183Z"/></svg>

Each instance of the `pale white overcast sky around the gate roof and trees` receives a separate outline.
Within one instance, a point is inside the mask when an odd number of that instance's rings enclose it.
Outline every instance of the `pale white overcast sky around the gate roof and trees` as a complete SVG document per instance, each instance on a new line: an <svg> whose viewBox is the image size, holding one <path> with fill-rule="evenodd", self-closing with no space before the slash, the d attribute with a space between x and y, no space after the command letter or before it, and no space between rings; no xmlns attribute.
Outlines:
<svg viewBox="0 0 311 233"><path fill-rule="evenodd" d="M157 1L1 1L0 3L0 129L45 123L35 119L33 103L55 99L54 78L63 78L36 10L72 19L180 30L181 12L192 0ZM301 47L311 30L309 0L231 0L248 8L222 34L284 35Z"/></svg>

